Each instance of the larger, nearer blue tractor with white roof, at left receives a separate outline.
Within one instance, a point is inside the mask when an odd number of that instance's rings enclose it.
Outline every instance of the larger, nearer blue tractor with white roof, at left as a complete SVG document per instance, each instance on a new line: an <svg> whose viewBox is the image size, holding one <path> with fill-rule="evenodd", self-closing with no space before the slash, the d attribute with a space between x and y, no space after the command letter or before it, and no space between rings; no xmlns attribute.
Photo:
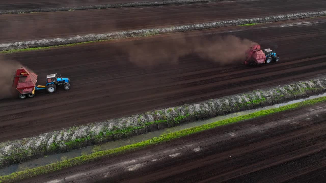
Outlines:
<svg viewBox="0 0 326 183"><path fill-rule="evenodd" d="M57 87L63 87L64 90L70 90L70 79L67 77L58 77L58 74L50 74L46 76L46 85L45 86L35 86L35 90L46 89L49 93L54 93L57 90Z"/></svg>

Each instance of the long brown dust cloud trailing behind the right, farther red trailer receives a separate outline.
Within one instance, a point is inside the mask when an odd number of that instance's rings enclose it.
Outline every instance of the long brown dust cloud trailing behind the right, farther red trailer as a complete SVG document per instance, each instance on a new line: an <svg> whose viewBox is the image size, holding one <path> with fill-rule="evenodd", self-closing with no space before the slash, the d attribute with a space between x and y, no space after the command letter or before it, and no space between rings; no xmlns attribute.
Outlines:
<svg viewBox="0 0 326 183"><path fill-rule="evenodd" d="M131 43L128 41L123 47L130 62L138 66L178 64L180 57L194 54L220 65L232 64L245 59L247 49L255 44L253 41L233 35L200 39L179 34L172 39L161 37L160 39L148 38L144 41L145 44L137 40Z"/></svg>

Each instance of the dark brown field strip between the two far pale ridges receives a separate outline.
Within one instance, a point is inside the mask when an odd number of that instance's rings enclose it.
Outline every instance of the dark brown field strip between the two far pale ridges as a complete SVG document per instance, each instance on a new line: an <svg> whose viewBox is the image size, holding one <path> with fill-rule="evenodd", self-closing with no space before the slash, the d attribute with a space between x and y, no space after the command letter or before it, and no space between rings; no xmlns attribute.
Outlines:
<svg viewBox="0 0 326 183"><path fill-rule="evenodd" d="M266 6L266 3L273 6ZM241 0L158 7L9 14L0 16L0 43L325 9L324 0Z"/></svg>

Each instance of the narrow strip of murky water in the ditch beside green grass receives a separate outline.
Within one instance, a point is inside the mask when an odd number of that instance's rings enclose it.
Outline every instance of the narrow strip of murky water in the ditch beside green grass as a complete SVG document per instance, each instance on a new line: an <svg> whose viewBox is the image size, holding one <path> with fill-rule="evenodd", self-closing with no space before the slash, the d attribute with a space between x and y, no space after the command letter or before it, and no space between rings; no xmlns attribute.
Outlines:
<svg viewBox="0 0 326 183"><path fill-rule="evenodd" d="M108 150L108 149L112 149L112 148L118 148L118 147L121 147L121 146L134 144L134 143L137 143L137 142L141 142L141 141L144 141L144 140L151 139L153 137L158 137L158 136L160 136L162 134L176 132L176 131L180 131L180 130L183 130L183 129L196 127L196 126L212 123L212 122L219 121L219 120L225 120L225 119L229 119L229 118L233 118L233 117L237 117L237 116L251 114L251 113L254 113L254 112L257 112L257 111L260 111L260 110L278 108L280 106L295 104L295 103L302 102L302 101L305 101L305 100L308 100L308 99L314 99L314 98L318 98L318 97L322 97L322 96L326 96L326 93L324 93L322 95L311 96L311 97L305 98L305 99L290 101L290 102L283 103L283 104L276 104L274 106L267 106L267 107L263 107L263 108L259 108L259 109L252 109L252 110L232 113L232 114L228 114L228 115L223 115L223 116L218 116L218 117L215 117L215 118L211 118L211 119L208 119L208 120L194 121L194 122L191 122L191 123L181 124L180 126L176 126L176 127L172 127L172 128L166 128L166 129L157 130L157 131L154 131L154 132L149 132L147 134L141 134L141 135L133 136L133 137L128 138L128 139L121 139L121 140L111 141L111 142L108 142L108 143L105 143L105 144L85 147L85 148L73 150L73 151L70 151L70 152L52 154L52 155L48 155L48 156L43 157L43 158L38 158L38 159L31 160L31 161L28 161L28 162L23 162L23 163L20 163L20 164L15 164L15 165L11 165L11 166L8 166L8 167L1 168L0 169L0 176L9 175L9 174L11 174L13 172L18 172L18 171L25 170L26 168L28 168L28 169L35 168L35 167L47 165L47 164L50 164L50 163L53 163L53 162L58 162L58 161L66 160L66 159L69 159L69 158L74 158L74 157L78 157L78 156L81 156L81 155L90 154L92 152L96 152L96 151L99 151L99 150Z"/></svg>

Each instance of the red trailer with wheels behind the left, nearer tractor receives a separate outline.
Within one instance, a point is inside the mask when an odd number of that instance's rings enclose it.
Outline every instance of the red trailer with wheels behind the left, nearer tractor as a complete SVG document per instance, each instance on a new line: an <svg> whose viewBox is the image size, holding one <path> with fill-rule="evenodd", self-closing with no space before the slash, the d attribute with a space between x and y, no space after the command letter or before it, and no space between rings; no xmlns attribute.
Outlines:
<svg viewBox="0 0 326 183"><path fill-rule="evenodd" d="M26 68L21 67L16 71L12 86L20 92L20 98L26 98L26 95L28 97L34 97L36 82L37 75L33 72L29 72Z"/></svg>

